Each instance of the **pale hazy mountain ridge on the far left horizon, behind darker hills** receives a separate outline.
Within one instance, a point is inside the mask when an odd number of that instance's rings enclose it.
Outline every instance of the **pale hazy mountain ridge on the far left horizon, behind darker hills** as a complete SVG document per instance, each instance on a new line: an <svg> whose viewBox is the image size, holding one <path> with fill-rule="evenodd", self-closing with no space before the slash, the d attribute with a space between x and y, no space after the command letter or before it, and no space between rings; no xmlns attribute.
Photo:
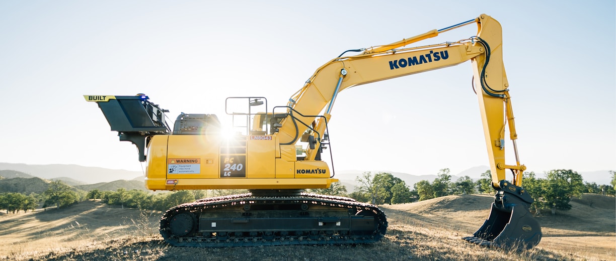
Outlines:
<svg viewBox="0 0 616 261"><path fill-rule="evenodd" d="M42 179L55 179L58 177L70 178L82 184L94 184L99 182L111 182L118 179L134 179L143 176L140 171L128 171L124 169L107 169L79 165L51 164L51 165L27 165L22 163L0 163L0 169L10 169L41 177ZM0 174L2 176L2 174Z"/></svg>

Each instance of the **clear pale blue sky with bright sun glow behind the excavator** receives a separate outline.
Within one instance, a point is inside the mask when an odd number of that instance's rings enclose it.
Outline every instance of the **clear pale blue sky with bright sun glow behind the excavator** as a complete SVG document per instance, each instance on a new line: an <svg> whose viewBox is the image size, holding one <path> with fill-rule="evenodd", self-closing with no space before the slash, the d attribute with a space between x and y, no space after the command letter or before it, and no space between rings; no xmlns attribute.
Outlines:
<svg viewBox="0 0 616 261"><path fill-rule="evenodd" d="M145 93L170 123L187 112L230 124L229 96L286 105L344 50L488 14L503 26L521 162L536 173L616 170L615 13L614 1L0 1L0 162L141 171L136 147L83 95ZM466 62L340 93L334 168L489 165L471 78Z"/></svg>

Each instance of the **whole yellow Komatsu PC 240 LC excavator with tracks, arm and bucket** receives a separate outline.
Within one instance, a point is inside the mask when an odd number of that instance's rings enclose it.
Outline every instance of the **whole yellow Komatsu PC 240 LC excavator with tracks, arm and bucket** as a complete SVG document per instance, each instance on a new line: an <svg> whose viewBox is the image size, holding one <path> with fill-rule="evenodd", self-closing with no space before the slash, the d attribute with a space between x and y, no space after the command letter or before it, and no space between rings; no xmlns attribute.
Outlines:
<svg viewBox="0 0 616 261"><path fill-rule="evenodd" d="M406 47L471 24L477 25L477 35L468 39ZM392 44L349 51L359 54L343 56L344 52L323 64L286 106L270 111L264 97L227 98L232 135L214 114L182 113L171 130L164 120L168 111L142 94L84 98L99 105L120 141L137 146L140 162L147 162L148 189L249 190L169 209L160 221L167 243L190 247L373 243L387 230L386 216L378 207L304 192L326 189L338 181L322 160L330 145L328 122L336 96L357 85L470 60L496 195L484 225L463 239L491 247L536 246L541 227L529 212L533 200L522 187L526 167L517 155L500 23L482 14ZM515 165L505 163L506 126ZM505 176L508 169L511 181Z"/></svg>

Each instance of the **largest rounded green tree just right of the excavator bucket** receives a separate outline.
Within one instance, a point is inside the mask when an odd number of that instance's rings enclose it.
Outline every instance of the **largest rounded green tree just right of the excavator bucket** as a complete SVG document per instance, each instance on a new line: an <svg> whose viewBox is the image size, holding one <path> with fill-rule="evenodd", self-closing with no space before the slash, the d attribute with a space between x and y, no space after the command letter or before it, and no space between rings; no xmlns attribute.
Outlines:
<svg viewBox="0 0 616 261"><path fill-rule="evenodd" d="M571 198L582 195L584 191L582 176L571 169L553 169L546 176L543 200L552 209L552 214L556 214L556 209L571 209Z"/></svg>

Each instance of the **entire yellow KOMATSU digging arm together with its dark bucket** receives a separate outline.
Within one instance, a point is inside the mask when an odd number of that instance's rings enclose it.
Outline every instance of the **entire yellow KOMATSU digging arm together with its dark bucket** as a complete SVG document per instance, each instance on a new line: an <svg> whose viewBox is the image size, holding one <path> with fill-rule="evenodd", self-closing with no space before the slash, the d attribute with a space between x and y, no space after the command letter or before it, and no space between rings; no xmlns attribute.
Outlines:
<svg viewBox="0 0 616 261"><path fill-rule="evenodd" d="M475 23L477 35L469 39L444 44L400 48L460 26ZM363 49L355 56L334 58L315 71L304 87L295 93L288 104L287 114L280 121L277 136L281 144L294 144L299 134L299 122L314 122L307 133L317 146L306 149L306 160L318 154L318 142L331 118L331 109L339 92L357 85L408 76L420 72L454 66L471 61L473 82L479 102L488 150L492 184L497 190L490 217L474 236L465 238L472 243L490 246L522 248L537 245L541 228L528 211L532 198L522 189L522 173L526 169L517 155L517 133L509 96L509 84L503 64L503 42L500 23L482 14L474 20L440 30L432 30L415 37L388 45ZM299 112L301 115L293 114ZM304 117L318 115L324 117ZM515 165L505 163L505 128L509 126L510 139L516 157ZM313 131L314 130L314 131ZM506 180L506 169L513 173L511 182Z"/></svg>

